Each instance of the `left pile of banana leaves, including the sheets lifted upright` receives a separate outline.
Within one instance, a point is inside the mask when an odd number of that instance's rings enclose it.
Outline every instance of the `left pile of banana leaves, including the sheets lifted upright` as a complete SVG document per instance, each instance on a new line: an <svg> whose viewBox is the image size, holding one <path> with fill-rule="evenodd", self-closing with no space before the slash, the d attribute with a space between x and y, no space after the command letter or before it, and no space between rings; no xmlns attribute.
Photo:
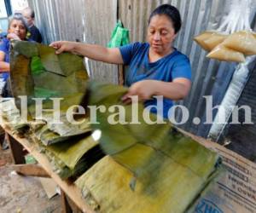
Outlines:
<svg viewBox="0 0 256 213"><path fill-rule="evenodd" d="M71 124L66 116L67 109L78 105L86 90L88 76L83 57L69 53L55 55L55 49L38 43L15 42L12 47L10 77L15 104L24 112L25 104L21 101L24 96L28 103L26 131L24 122L16 124L15 130L26 133L61 178L83 174L103 156L99 144L91 137L87 119L80 117L76 122L84 122ZM61 99L60 109L52 111L55 106L51 98ZM40 99L44 111L38 118ZM19 112L18 109L14 112ZM59 113L57 123L55 112Z"/></svg>

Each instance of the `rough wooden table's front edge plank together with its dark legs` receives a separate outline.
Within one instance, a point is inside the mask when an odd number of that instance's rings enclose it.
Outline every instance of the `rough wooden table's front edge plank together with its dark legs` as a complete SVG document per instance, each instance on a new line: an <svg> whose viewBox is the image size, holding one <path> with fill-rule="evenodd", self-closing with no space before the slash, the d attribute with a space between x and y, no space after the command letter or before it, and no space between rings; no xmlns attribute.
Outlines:
<svg viewBox="0 0 256 213"><path fill-rule="evenodd" d="M90 213L94 212L90 209L89 205L85 204L84 199L82 199L81 192L78 187L76 187L72 182L62 181L60 176L55 174L51 169L48 158L43 153L39 153L37 148L27 141L26 138L20 138L19 135L13 135L9 126L6 124L0 124L3 130L9 135L9 147L12 151L13 159L15 164L25 164L24 158L24 148L27 152L31 153L34 158L37 159L38 163L44 168L48 175L61 187L61 191L64 192L73 203L82 210L83 212ZM61 193L61 203L64 208L64 212L72 212L70 206L67 204L67 197L64 193Z"/></svg>

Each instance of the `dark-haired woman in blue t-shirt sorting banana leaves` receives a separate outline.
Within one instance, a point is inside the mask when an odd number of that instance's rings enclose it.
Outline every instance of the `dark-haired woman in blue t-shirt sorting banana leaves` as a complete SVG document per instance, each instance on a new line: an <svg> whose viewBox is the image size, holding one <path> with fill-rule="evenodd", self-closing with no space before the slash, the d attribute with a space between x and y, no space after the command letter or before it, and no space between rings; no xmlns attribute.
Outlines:
<svg viewBox="0 0 256 213"><path fill-rule="evenodd" d="M125 85L130 87L123 101L131 101L130 95L137 95L145 106L156 106L154 95L164 97L164 118L172 107L172 100L181 100L189 94L191 68L189 59L172 47L181 27L178 10L163 4L154 9L148 20L148 43L131 43L120 48L108 49L102 46L60 41L51 43L56 54L70 51L93 60L113 64L129 65ZM157 112L155 107L151 112Z"/></svg>

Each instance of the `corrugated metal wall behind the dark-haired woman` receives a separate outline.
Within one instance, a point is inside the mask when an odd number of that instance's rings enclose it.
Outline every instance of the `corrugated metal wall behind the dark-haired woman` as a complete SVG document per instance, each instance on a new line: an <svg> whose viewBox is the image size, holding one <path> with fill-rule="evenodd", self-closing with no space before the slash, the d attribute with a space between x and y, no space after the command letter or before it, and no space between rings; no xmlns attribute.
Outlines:
<svg viewBox="0 0 256 213"><path fill-rule="evenodd" d="M236 63L209 60L193 37L205 30L216 30L230 10L232 0L29 0L37 13L38 26L47 43L76 40L106 45L117 16L131 32L131 42L145 41L150 12L162 3L171 3L180 10L183 19L181 32L175 42L177 49L188 55L192 66L193 86L187 99L179 103L189 108L189 122L181 126L196 135L207 137L210 124L205 120L204 95L213 96L213 105L221 103ZM81 24L82 23L84 24ZM255 26L255 17L252 28ZM84 36L82 36L84 35ZM90 62L92 78L117 83L117 66ZM213 115L216 112L213 113ZM193 124L193 118L201 124ZM181 113L177 114L177 120ZM213 117L214 118L214 117Z"/></svg>

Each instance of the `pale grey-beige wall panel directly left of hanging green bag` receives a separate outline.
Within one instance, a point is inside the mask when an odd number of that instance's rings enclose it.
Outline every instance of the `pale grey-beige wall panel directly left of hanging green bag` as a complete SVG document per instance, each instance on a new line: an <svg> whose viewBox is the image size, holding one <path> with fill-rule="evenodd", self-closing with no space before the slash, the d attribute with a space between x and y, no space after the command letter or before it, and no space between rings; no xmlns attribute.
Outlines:
<svg viewBox="0 0 256 213"><path fill-rule="evenodd" d="M107 46L117 22L117 0L85 0L85 42ZM118 66L90 61L91 78L118 83Z"/></svg>

